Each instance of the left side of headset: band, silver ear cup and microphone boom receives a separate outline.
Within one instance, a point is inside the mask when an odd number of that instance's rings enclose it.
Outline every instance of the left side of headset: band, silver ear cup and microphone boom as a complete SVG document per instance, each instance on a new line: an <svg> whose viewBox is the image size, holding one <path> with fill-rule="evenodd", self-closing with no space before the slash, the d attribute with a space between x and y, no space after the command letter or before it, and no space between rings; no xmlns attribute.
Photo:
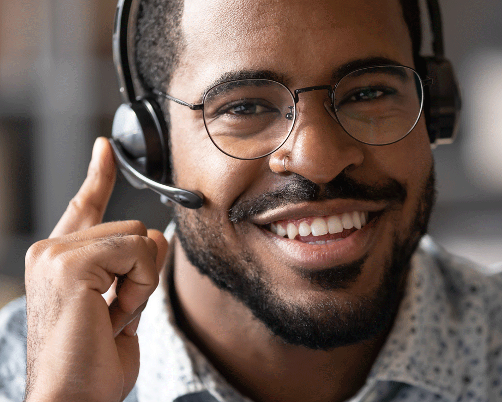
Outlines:
<svg viewBox="0 0 502 402"><path fill-rule="evenodd" d="M134 63L137 9L140 0L119 0L113 29L113 60L120 85L122 105L112 124L115 161L135 188L159 193L161 202L200 208L204 195L165 184L170 177L169 137L162 111L152 94L144 90Z"/></svg>

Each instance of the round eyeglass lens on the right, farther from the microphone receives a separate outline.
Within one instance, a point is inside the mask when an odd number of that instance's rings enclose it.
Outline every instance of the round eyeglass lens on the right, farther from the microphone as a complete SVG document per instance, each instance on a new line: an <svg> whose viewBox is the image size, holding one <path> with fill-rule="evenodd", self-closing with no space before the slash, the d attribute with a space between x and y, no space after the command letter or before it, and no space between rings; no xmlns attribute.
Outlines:
<svg viewBox="0 0 502 402"><path fill-rule="evenodd" d="M371 145L404 138L422 113L420 76L408 67L376 66L344 76L333 92L340 125L350 136Z"/></svg>

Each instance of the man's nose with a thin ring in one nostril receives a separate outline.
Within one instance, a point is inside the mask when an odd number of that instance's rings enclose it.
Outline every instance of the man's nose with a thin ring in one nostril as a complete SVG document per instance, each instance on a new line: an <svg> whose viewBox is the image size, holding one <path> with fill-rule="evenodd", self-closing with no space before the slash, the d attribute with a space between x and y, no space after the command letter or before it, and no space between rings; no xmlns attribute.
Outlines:
<svg viewBox="0 0 502 402"><path fill-rule="evenodd" d="M288 140L270 156L272 171L296 173L325 184L343 170L352 171L364 161L364 144L350 137L334 120L318 92L304 95L297 104L296 122ZM287 169L287 172L286 172Z"/></svg>

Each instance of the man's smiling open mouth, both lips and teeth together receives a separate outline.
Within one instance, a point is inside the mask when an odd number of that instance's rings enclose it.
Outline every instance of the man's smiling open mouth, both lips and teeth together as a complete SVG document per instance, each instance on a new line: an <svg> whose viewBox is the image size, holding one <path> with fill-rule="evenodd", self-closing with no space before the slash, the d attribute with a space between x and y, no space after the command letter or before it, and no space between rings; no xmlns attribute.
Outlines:
<svg viewBox="0 0 502 402"><path fill-rule="evenodd" d="M378 253L388 241L390 208L358 200L304 203L258 214L251 223L264 235L257 247L280 256L281 264L317 270Z"/></svg>

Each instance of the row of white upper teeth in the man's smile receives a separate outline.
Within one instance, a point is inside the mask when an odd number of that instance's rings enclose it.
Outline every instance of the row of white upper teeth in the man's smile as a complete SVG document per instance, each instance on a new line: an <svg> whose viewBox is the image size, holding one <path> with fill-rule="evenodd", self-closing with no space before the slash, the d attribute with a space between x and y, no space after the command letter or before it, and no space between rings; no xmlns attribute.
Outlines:
<svg viewBox="0 0 502 402"><path fill-rule="evenodd" d="M296 235L302 237L312 234L313 236L323 236L325 234L340 233L343 229L361 229L366 225L368 212L354 211L327 217L315 217L309 225L307 221L295 221L289 223L279 223L270 225L270 230L278 236L294 239Z"/></svg>

